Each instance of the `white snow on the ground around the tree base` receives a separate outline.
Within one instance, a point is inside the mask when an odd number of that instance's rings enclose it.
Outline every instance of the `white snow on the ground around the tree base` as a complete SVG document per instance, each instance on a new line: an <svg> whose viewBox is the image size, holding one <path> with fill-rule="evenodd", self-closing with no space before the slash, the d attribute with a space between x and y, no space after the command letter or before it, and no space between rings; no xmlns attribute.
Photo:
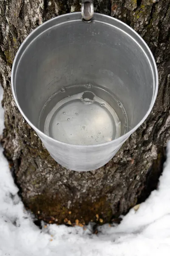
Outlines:
<svg viewBox="0 0 170 256"><path fill-rule="evenodd" d="M0 108L0 133L2 131L3 110ZM121 224L104 225L97 235L82 227L55 224L40 230L24 209L17 192L0 146L0 256L170 255L170 143L158 190L153 191L137 211L131 209Z"/></svg>

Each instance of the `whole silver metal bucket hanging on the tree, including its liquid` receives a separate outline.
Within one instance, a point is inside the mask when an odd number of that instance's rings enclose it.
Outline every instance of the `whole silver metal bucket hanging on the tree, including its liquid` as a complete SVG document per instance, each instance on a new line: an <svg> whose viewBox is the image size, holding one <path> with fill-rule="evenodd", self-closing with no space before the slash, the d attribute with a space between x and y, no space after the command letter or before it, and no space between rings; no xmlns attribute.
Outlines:
<svg viewBox="0 0 170 256"><path fill-rule="evenodd" d="M158 91L143 39L106 15L88 21L77 12L43 23L21 45L11 75L23 117L54 160L75 171L108 163L147 118Z"/></svg>

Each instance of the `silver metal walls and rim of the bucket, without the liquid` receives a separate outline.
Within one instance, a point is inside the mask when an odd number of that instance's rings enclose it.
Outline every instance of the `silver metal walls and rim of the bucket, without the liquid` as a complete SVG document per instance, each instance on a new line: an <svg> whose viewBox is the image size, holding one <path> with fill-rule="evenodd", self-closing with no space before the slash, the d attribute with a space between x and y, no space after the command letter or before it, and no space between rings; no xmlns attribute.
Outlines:
<svg viewBox="0 0 170 256"><path fill-rule="evenodd" d="M107 143L73 145L40 131L46 100L62 87L87 82L120 99L127 133ZM48 20L26 38L14 59L11 84L17 107L54 160L89 171L105 165L147 118L158 92L158 71L147 44L125 23L96 13L85 23L77 12Z"/></svg>

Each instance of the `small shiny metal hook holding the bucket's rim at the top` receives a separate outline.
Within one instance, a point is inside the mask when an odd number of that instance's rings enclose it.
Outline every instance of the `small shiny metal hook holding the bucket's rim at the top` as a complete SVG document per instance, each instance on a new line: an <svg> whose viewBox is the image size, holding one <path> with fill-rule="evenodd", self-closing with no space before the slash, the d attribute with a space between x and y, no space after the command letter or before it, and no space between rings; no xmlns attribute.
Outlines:
<svg viewBox="0 0 170 256"><path fill-rule="evenodd" d="M85 22L91 22L93 14L93 0L82 0L82 20Z"/></svg>

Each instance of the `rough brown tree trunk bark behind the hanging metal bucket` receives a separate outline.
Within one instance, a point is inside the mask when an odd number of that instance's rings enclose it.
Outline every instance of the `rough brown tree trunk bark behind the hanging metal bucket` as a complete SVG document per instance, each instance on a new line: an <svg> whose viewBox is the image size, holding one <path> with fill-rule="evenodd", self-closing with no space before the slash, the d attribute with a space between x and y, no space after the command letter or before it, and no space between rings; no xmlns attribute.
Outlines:
<svg viewBox="0 0 170 256"><path fill-rule="evenodd" d="M1 137L24 204L48 222L111 221L155 188L170 138L170 0L94 0L95 11L138 32L159 70L159 93L146 122L113 159L92 172L59 166L19 113L11 93L11 66L26 36L45 20L80 11L79 0L1 0L0 73L5 130ZM98 217L98 216L97 216Z"/></svg>

